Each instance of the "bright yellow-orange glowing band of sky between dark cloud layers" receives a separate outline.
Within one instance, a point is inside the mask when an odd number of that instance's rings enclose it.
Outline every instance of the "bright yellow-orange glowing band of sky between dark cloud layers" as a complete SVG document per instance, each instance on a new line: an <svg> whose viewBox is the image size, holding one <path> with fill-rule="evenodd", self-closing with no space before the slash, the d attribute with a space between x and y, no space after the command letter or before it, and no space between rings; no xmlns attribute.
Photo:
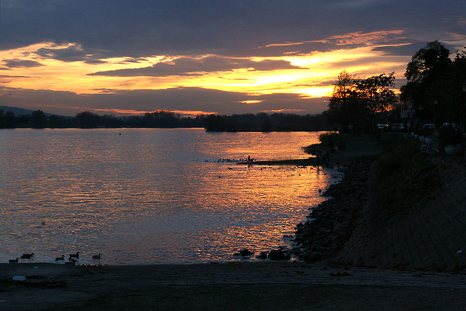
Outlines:
<svg viewBox="0 0 466 311"><path fill-rule="evenodd" d="M209 54L90 60L89 57L97 56L80 55L79 44L42 43L0 51L0 69L3 69L0 70L2 73L0 86L69 91L77 94L183 87L217 89L249 95L294 93L302 94L300 98L327 97L330 96L333 83L342 70L361 77L395 71L397 77L403 78L409 57L385 55L382 51L375 49L379 46L387 45L358 46L296 55L283 54L281 57L233 58ZM82 59L70 60L66 58L67 55L54 54L57 51L63 52L64 49L77 51L76 55ZM210 63L204 64L204 60ZM230 64L236 67L229 70ZM238 68L238 64L245 64L245 67ZM250 67L249 64L262 67L259 67L259 70ZM280 66L277 65L278 67L274 68L274 64L280 64ZM207 66L206 71L199 71L203 70L203 65ZM218 71L215 70L216 68L222 69ZM121 69L130 69L124 71L125 74L128 73L127 76L117 76L120 71L116 70ZM99 74L95 74L96 72ZM144 72L150 72L152 76L142 75ZM241 102L261 103L260 100ZM131 109L93 109L93 111L121 114L147 112ZM214 113L188 111L186 114L197 112ZM176 113L185 114L182 110L177 110Z"/></svg>

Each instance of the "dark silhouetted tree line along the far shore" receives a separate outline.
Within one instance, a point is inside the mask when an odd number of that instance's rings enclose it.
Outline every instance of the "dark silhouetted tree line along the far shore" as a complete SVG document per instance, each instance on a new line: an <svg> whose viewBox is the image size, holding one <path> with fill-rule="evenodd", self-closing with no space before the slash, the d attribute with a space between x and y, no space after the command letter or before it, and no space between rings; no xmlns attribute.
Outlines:
<svg viewBox="0 0 466 311"><path fill-rule="evenodd" d="M171 111L147 112L135 116L98 115L90 111L74 117L46 114L42 110L16 116L0 110L0 128L205 128L207 131L323 131L322 115L267 114L199 114L181 117Z"/></svg>

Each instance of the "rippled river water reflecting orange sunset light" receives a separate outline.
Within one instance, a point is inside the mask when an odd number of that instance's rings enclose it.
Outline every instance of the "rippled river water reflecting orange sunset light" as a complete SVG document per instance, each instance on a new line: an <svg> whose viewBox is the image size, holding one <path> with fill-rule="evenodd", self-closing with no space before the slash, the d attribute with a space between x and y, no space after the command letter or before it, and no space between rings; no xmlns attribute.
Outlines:
<svg viewBox="0 0 466 311"><path fill-rule="evenodd" d="M217 160L304 158L318 134L1 130L0 262L76 251L80 264L99 252L106 264L231 261L287 245L339 173Z"/></svg>

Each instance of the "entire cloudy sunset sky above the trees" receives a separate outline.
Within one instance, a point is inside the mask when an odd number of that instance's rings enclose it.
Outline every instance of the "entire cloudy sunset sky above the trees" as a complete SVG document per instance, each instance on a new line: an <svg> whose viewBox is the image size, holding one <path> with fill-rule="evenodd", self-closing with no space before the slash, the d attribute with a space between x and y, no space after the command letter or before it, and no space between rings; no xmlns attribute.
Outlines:
<svg viewBox="0 0 466 311"><path fill-rule="evenodd" d="M1 0L0 106L320 113L342 70L466 45L466 0Z"/></svg>

